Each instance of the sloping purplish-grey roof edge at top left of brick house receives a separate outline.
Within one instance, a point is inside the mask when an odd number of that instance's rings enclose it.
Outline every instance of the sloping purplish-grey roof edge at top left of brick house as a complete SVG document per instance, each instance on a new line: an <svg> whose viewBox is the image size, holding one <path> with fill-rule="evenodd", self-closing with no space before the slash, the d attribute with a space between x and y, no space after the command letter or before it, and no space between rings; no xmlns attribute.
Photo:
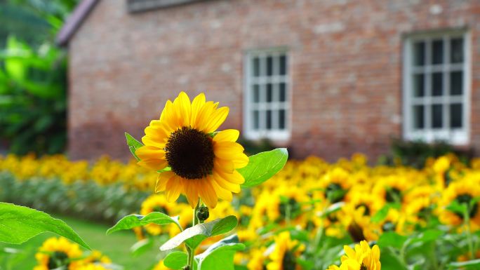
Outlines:
<svg viewBox="0 0 480 270"><path fill-rule="evenodd" d="M67 46L76 30L79 29L82 22L85 21L88 14L99 1L100 0L82 0L80 4L76 6L72 15L69 16L65 24L62 26L62 29L60 29L60 32L57 34L55 43L57 43L58 46Z"/></svg>

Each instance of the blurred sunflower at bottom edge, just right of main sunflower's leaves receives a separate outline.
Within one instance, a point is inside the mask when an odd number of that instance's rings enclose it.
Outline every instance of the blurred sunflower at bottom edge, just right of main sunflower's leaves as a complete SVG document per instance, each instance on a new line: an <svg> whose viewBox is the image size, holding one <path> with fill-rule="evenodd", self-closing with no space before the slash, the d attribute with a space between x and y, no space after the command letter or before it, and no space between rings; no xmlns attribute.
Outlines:
<svg viewBox="0 0 480 270"><path fill-rule="evenodd" d="M292 241L290 233L284 231L275 238L275 247L269 258L272 262L267 264L267 270L300 270L297 257L305 249L298 241Z"/></svg>

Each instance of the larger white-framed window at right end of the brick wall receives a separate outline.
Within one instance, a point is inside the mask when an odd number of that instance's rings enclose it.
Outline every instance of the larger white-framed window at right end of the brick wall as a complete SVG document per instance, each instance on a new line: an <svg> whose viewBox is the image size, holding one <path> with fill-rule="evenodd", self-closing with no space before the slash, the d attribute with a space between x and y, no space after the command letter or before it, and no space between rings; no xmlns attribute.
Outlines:
<svg viewBox="0 0 480 270"><path fill-rule="evenodd" d="M467 33L419 34L406 39L404 45L404 137L467 144Z"/></svg>

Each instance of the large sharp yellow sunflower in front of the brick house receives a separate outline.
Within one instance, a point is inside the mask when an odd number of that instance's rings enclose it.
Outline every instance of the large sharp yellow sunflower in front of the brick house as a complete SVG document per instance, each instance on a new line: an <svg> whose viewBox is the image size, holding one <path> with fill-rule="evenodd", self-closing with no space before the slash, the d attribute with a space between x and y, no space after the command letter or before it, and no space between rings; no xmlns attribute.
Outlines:
<svg viewBox="0 0 480 270"><path fill-rule="evenodd" d="M232 192L240 191L244 177L236 169L246 166L248 157L236 143L239 131L214 133L228 111L206 102L203 93L190 102L182 92L173 102L168 100L160 119L145 128L145 146L135 151L138 164L161 171L155 189L166 191L168 201L185 194L192 208L199 199L215 208L218 198L232 201Z"/></svg>

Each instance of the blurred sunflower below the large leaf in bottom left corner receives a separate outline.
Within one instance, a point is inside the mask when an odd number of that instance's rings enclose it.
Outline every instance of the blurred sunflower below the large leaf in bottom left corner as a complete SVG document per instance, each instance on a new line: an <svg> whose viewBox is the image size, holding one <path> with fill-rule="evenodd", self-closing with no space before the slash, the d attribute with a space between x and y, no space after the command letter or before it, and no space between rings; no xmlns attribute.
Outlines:
<svg viewBox="0 0 480 270"><path fill-rule="evenodd" d="M76 259L81 257L81 250L76 243L70 243L66 238L48 238L39 248L35 258L38 265L35 270L65 269L74 270L79 265Z"/></svg>

